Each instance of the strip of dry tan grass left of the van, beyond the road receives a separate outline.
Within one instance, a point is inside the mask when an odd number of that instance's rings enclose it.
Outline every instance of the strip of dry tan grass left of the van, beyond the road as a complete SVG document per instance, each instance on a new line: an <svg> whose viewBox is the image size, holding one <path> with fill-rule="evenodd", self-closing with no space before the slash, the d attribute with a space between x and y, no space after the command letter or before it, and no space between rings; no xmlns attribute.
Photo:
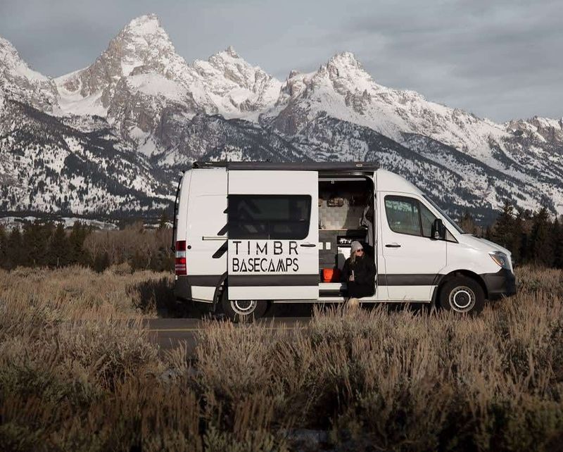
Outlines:
<svg viewBox="0 0 563 452"><path fill-rule="evenodd" d="M169 273L132 272L127 263L101 275L77 266L18 268L0 270L0 300L6 315L16 318L32 309L56 320L130 319L155 315L157 305L170 303L172 282Z"/></svg>

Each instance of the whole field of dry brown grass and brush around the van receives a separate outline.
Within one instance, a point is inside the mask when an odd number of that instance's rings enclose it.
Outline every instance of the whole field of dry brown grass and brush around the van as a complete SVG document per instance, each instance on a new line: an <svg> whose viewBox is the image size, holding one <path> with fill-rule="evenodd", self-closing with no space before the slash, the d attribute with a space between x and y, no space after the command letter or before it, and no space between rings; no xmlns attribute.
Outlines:
<svg viewBox="0 0 563 452"><path fill-rule="evenodd" d="M0 273L2 450L562 448L562 271L519 269L519 294L476 319L382 306L291 330L208 322L195 361L123 321L165 275L65 271Z"/></svg>

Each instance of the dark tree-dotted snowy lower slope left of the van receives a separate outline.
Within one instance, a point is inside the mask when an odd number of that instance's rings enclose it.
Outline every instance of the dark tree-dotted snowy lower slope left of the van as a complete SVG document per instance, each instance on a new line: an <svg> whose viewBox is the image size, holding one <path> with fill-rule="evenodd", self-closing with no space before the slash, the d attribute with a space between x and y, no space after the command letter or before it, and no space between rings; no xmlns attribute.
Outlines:
<svg viewBox="0 0 563 452"><path fill-rule="evenodd" d="M0 211L155 213L170 203L163 171L111 130L82 132L25 103L0 113Z"/></svg>

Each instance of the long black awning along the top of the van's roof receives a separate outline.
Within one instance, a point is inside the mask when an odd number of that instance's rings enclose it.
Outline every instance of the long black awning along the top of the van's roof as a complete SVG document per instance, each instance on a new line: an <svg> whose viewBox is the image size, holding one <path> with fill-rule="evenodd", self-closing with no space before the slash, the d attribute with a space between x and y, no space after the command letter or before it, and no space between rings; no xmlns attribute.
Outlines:
<svg viewBox="0 0 563 452"><path fill-rule="evenodd" d="M278 170L320 172L372 172L379 168L374 162L194 162L192 168L227 168L227 170Z"/></svg>

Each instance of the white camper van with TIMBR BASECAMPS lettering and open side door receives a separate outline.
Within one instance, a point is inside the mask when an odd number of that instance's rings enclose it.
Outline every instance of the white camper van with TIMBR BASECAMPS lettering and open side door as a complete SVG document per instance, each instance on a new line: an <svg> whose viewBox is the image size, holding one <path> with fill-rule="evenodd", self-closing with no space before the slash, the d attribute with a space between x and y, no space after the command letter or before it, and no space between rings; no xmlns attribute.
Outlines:
<svg viewBox="0 0 563 452"><path fill-rule="evenodd" d="M175 295L232 320L271 303L345 303L352 241L376 265L361 303L479 313L516 292L510 251L465 234L373 163L194 163L175 203Z"/></svg>

